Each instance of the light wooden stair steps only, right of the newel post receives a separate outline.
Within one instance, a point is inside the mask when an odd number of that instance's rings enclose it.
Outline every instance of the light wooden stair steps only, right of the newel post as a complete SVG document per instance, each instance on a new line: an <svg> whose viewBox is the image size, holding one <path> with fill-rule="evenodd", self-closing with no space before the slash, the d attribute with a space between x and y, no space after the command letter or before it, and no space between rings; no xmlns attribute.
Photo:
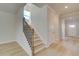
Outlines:
<svg viewBox="0 0 79 59"><path fill-rule="evenodd" d="M44 44L40 40L38 34L34 32L34 55L45 49Z"/></svg>

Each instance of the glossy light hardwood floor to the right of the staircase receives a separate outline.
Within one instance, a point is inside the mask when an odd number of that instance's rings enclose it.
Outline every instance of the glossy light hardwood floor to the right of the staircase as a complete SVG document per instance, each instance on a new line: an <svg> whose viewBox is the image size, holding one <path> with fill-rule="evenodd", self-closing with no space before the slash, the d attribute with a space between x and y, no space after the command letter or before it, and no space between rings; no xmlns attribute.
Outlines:
<svg viewBox="0 0 79 59"><path fill-rule="evenodd" d="M70 47L71 48L71 47ZM65 47L64 42L53 43L49 48L40 51L36 56L79 56L79 50ZM78 47L79 48L79 47Z"/></svg>

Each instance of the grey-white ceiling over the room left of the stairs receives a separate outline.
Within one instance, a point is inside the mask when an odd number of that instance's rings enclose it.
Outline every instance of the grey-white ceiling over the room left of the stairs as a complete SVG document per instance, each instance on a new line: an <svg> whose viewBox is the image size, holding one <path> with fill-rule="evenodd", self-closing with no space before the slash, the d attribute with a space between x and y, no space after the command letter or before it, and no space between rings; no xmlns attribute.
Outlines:
<svg viewBox="0 0 79 59"><path fill-rule="evenodd" d="M21 6L24 6L24 3L0 3L0 11L5 11L15 14Z"/></svg>

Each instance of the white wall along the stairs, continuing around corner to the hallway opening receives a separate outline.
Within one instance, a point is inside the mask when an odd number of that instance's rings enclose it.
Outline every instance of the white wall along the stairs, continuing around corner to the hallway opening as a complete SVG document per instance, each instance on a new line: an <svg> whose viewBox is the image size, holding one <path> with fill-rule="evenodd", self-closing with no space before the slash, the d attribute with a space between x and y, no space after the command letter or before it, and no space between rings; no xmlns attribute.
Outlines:
<svg viewBox="0 0 79 59"><path fill-rule="evenodd" d="M32 23L46 47L59 40L59 15L48 5L32 5Z"/></svg>

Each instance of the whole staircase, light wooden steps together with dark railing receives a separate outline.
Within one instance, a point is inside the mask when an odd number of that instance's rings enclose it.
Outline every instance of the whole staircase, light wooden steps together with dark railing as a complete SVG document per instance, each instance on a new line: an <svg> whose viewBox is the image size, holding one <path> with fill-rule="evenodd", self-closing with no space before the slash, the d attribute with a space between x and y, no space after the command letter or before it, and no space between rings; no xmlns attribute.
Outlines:
<svg viewBox="0 0 79 59"><path fill-rule="evenodd" d="M40 36L36 34L35 30L23 19L23 32L27 38L27 41L32 49L32 54L35 55L45 49Z"/></svg>

